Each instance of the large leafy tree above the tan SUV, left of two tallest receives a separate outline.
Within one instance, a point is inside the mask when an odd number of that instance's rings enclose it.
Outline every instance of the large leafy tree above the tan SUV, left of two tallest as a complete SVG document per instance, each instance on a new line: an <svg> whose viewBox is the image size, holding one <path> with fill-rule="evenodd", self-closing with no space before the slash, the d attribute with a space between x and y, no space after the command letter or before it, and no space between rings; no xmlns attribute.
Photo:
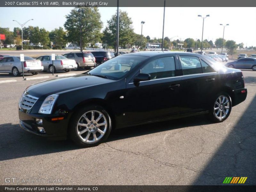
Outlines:
<svg viewBox="0 0 256 192"><path fill-rule="evenodd" d="M100 12L97 7L79 7L83 9L80 12L78 8L72 9L70 14L66 15L66 22L64 27L67 30L67 39L69 42L77 43L80 45L80 24L82 26L82 47L89 43L98 42L101 37L100 30L102 22L100 20Z"/></svg>

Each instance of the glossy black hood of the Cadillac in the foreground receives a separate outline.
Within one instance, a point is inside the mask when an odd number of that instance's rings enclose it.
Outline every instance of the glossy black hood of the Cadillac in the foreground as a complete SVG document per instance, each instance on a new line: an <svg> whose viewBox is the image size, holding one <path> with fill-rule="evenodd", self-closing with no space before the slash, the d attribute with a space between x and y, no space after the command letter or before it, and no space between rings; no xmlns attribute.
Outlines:
<svg viewBox="0 0 256 192"><path fill-rule="evenodd" d="M70 91L73 89L85 88L88 86L95 86L98 84L110 83L113 81L114 80L105 79L97 76L80 74L76 76L62 77L59 79L53 79L33 84L26 88L26 92L29 95L38 97L39 100L44 100L47 96L51 94Z"/></svg>

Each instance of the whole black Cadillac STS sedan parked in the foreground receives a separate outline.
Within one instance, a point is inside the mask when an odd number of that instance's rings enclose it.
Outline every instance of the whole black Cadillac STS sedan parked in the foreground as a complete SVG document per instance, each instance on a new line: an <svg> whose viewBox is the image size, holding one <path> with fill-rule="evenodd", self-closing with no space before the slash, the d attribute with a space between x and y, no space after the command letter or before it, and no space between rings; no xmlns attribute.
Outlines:
<svg viewBox="0 0 256 192"><path fill-rule="evenodd" d="M87 73L29 86L19 101L20 126L94 146L113 128L204 113L222 122L246 95L242 72L209 57L136 52Z"/></svg>

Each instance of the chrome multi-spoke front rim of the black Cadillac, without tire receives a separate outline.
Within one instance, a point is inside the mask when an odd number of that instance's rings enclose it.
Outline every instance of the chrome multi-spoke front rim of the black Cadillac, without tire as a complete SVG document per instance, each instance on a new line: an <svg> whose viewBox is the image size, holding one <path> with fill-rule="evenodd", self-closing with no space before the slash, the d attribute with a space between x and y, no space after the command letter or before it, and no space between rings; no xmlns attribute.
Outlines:
<svg viewBox="0 0 256 192"><path fill-rule="evenodd" d="M100 140L107 131L106 117L96 110L84 113L76 124L76 132L85 143L94 143Z"/></svg>

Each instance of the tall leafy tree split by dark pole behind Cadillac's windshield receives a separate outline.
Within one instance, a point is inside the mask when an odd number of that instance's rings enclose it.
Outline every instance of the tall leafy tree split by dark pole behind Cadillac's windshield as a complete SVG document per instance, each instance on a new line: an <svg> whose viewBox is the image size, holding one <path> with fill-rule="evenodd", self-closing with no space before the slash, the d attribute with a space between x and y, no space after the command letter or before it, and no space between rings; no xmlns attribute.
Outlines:
<svg viewBox="0 0 256 192"><path fill-rule="evenodd" d="M116 47L116 22L117 13L112 15L107 21L108 26L103 31L102 41ZM132 27L132 19L125 11L119 11L119 45L125 47L126 44L132 44L134 40L134 32Z"/></svg>

